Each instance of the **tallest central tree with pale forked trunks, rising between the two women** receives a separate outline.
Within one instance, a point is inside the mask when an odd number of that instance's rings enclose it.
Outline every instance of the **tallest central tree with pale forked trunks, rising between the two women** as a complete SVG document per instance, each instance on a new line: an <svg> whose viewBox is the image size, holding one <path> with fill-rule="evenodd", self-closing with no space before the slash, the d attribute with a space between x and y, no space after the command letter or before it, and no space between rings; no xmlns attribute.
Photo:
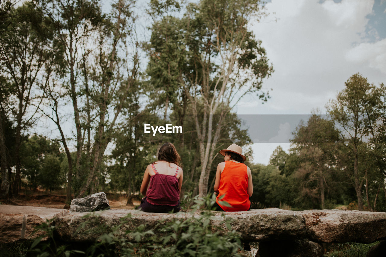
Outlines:
<svg viewBox="0 0 386 257"><path fill-rule="evenodd" d="M266 100L262 79L273 68L261 41L247 30L252 16L264 15L260 1L202 0L189 3L182 18L173 17L180 7L178 1L151 1L152 14L161 18L147 44L147 72L155 88L163 86L156 103L165 107L164 113L172 106L178 125L192 115L200 156L199 194L204 196L225 116L245 94L258 92ZM181 141L183 145L184 137Z"/></svg>

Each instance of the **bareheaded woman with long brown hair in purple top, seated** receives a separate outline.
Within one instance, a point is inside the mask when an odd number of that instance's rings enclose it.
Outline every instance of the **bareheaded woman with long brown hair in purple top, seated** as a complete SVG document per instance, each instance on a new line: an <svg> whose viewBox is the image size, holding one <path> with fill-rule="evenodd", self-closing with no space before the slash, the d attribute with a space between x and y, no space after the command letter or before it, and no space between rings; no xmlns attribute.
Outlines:
<svg viewBox="0 0 386 257"><path fill-rule="evenodd" d="M139 210L158 213L181 210L179 192L183 176L180 161L181 157L173 144L165 143L161 146L158 161L149 164L145 170L141 184L141 193L145 197Z"/></svg>

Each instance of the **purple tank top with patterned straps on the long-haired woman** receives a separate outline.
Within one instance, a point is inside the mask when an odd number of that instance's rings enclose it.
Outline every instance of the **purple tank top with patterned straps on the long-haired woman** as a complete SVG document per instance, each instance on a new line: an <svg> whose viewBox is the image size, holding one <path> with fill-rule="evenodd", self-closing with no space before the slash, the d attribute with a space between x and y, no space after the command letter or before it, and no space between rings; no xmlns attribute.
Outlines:
<svg viewBox="0 0 386 257"><path fill-rule="evenodd" d="M178 205L179 188L176 176L179 167L177 167L174 176L159 174L153 164L152 168L156 174L150 177L146 200L152 205Z"/></svg>

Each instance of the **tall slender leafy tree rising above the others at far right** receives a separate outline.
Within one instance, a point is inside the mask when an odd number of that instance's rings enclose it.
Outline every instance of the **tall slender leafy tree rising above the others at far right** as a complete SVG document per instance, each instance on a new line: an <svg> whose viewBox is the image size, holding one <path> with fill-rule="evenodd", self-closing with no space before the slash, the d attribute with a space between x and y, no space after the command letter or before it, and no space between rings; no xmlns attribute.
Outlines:
<svg viewBox="0 0 386 257"><path fill-rule="evenodd" d="M328 114L337 124L342 139L351 155L350 163L344 164L344 169L350 171L350 180L357 195L358 209L363 210L362 187L364 184L363 169L359 167L359 145L365 142L370 133L369 125L374 123L374 86L367 82L361 74L352 75L345 88L338 93L337 99L330 101Z"/></svg>

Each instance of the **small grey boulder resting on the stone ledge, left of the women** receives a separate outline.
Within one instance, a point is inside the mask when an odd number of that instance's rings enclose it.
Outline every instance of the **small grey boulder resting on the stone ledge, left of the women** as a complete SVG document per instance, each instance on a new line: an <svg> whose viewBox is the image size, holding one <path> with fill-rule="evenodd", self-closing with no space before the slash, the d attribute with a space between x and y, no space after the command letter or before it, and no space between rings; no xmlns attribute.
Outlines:
<svg viewBox="0 0 386 257"><path fill-rule="evenodd" d="M91 212L101 210L110 210L110 204L108 203L104 192L73 199L70 205L71 212Z"/></svg>

